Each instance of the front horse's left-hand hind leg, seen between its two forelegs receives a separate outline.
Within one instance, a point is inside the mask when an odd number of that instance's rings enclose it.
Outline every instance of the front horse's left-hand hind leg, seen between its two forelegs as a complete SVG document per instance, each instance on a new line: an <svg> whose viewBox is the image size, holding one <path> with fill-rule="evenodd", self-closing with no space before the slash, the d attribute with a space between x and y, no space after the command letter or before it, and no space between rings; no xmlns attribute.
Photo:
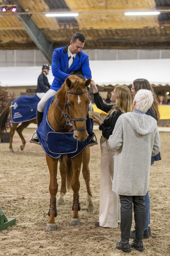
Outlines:
<svg viewBox="0 0 170 256"><path fill-rule="evenodd" d="M64 204L64 196L66 194L66 171L67 171L67 159L63 157L63 161L60 161L60 175L61 175L61 189L60 196L57 198L57 203Z"/></svg>

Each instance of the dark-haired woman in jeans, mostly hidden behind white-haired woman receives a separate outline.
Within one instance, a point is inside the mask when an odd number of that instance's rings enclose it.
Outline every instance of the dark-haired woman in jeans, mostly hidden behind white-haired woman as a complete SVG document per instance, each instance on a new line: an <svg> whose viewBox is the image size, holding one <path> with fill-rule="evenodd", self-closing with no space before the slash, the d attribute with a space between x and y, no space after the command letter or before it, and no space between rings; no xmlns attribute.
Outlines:
<svg viewBox="0 0 170 256"><path fill-rule="evenodd" d="M153 118L155 118L158 121L160 118L160 114L158 111L157 96L156 96L152 86L149 84L148 80L146 80L144 78L134 80L134 82L132 84L132 88L131 88L133 97L135 97L136 92L141 89L147 89L147 90L152 91L154 101L153 101L151 108L149 108L149 110L146 112L146 114L148 116L152 116ZM157 155L151 157L151 165L154 164L154 161L159 161L159 160L161 160L160 152ZM149 197L148 191L147 191L146 195L144 196L144 199L145 199L145 205L146 205L146 221L145 221L145 231L143 233L143 239L148 239L151 236L151 228L149 226L151 202L150 202L150 197ZM130 231L130 238L135 238L135 235L136 235L136 230Z"/></svg>

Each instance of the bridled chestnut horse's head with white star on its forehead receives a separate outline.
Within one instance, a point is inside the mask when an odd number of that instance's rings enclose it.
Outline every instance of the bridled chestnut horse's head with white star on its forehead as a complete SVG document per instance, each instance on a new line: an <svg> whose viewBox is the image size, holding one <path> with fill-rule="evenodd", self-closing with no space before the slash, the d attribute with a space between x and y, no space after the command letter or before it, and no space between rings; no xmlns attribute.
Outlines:
<svg viewBox="0 0 170 256"><path fill-rule="evenodd" d="M86 131L89 96L86 87L91 79L86 81L72 75L66 79L66 109L74 128L74 138L84 141L89 135Z"/></svg>

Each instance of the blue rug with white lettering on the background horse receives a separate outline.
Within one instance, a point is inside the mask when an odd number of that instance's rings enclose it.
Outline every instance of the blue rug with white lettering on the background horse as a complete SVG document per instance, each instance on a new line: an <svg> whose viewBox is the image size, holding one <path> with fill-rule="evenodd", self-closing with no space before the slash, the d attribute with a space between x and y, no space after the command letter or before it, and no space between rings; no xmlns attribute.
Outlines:
<svg viewBox="0 0 170 256"><path fill-rule="evenodd" d="M23 95L11 103L11 119L13 123L22 123L36 118L36 108L40 98Z"/></svg>

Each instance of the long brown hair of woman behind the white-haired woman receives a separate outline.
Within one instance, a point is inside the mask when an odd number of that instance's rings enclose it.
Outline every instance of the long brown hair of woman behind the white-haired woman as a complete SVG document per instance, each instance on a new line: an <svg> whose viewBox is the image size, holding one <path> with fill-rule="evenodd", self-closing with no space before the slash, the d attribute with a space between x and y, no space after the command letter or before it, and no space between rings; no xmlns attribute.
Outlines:
<svg viewBox="0 0 170 256"><path fill-rule="evenodd" d="M159 110L158 110L157 96L153 90L153 87L149 84L148 80L146 80L144 78L134 80L133 84L134 84L135 92L137 92L140 89L147 89L147 90L152 91L154 101L151 106L151 111L154 114L156 120L158 121L160 118L160 114L159 114Z"/></svg>

